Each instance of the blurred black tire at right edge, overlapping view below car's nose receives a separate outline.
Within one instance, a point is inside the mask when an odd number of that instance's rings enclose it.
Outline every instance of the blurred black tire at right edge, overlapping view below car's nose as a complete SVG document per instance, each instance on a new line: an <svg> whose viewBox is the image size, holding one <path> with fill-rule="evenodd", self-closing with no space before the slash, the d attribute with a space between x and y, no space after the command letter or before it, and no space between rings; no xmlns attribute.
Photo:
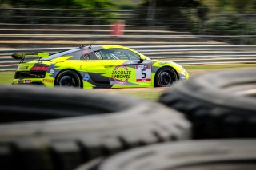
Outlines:
<svg viewBox="0 0 256 170"><path fill-rule="evenodd" d="M167 89L159 101L184 113L194 139L256 137L256 69L202 74Z"/></svg>

